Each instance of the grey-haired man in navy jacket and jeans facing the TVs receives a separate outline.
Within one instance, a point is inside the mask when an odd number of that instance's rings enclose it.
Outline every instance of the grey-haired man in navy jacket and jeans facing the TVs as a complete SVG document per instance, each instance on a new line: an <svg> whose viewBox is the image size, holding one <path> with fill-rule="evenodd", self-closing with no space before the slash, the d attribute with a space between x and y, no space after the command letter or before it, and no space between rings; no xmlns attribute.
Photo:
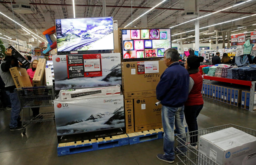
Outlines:
<svg viewBox="0 0 256 165"><path fill-rule="evenodd" d="M174 48L169 48L164 52L163 61L168 68L161 75L161 79L156 88L157 99L162 104L162 124L164 130L163 151L157 158L173 163L174 148L174 123L178 134L185 134L184 103L189 94L189 73L179 65L179 53Z"/></svg>

